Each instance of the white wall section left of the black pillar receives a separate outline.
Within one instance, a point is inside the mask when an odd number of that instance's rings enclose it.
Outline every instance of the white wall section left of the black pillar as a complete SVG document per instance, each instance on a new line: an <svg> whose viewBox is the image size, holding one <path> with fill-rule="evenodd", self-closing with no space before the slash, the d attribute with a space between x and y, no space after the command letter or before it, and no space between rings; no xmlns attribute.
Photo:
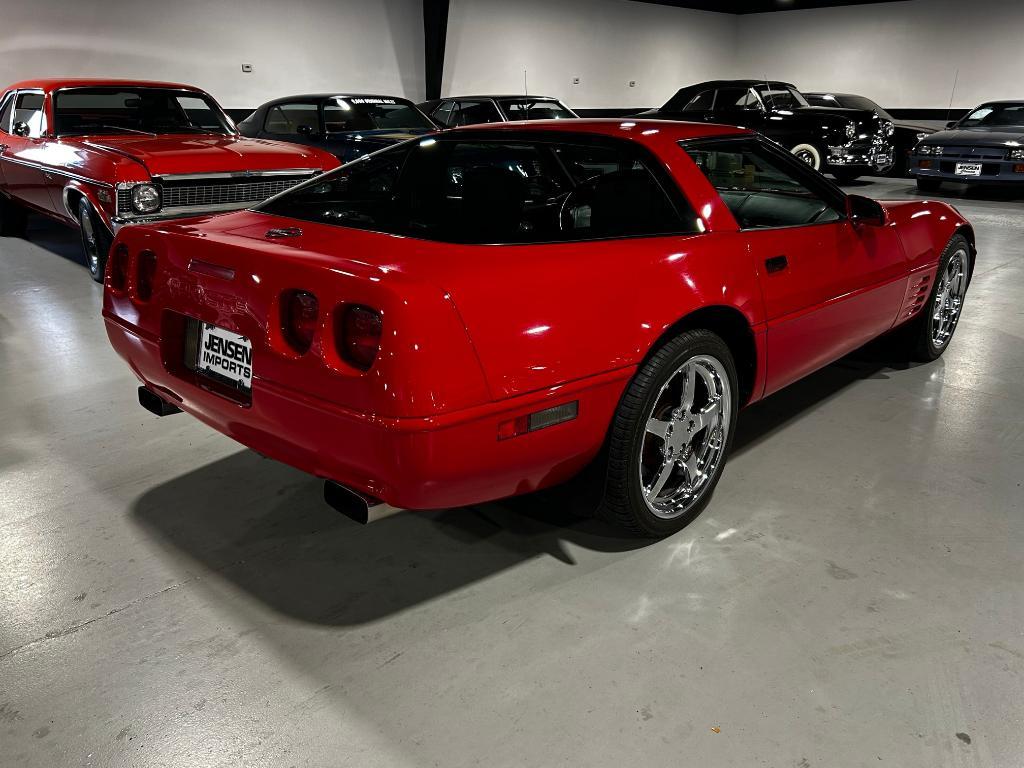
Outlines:
<svg viewBox="0 0 1024 768"><path fill-rule="evenodd" d="M424 98L421 0L3 0L0 88L171 80L228 109L331 90ZM242 73L242 63L254 72Z"/></svg>

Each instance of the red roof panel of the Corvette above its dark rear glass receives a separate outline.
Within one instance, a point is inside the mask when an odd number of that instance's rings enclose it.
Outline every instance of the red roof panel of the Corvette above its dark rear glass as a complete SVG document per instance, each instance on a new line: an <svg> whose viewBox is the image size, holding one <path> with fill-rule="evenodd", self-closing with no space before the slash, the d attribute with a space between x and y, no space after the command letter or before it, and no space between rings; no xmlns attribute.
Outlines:
<svg viewBox="0 0 1024 768"><path fill-rule="evenodd" d="M716 136L743 136L753 134L745 128L715 123L684 123L676 120L633 120L622 118L580 118L578 120L517 120L507 123L481 123L449 128L452 133L501 133L503 131L550 131L551 133L591 133L600 136L624 134L633 140L644 140L653 135L672 141ZM643 138L641 138L643 137Z"/></svg>

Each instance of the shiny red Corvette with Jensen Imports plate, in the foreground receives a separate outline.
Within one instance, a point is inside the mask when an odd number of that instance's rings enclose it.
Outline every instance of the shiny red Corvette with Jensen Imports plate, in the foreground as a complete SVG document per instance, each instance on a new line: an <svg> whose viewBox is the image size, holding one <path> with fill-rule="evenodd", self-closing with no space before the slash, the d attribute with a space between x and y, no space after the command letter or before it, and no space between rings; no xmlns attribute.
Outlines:
<svg viewBox="0 0 1024 768"><path fill-rule="evenodd" d="M143 406L430 509L594 462L640 535L692 519L741 407L893 331L938 357L974 232L847 197L736 128L511 123L367 156L256 209L126 227L111 342Z"/></svg>

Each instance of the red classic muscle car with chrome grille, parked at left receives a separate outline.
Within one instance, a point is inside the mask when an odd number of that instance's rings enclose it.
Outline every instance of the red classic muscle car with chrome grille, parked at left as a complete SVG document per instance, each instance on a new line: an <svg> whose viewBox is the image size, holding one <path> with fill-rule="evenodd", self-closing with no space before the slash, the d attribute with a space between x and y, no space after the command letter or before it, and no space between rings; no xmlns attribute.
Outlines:
<svg viewBox="0 0 1024 768"><path fill-rule="evenodd" d="M188 85L33 80L0 96L0 234L23 236L28 211L78 226L96 281L122 224L238 210L337 166L241 137Z"/></svg>

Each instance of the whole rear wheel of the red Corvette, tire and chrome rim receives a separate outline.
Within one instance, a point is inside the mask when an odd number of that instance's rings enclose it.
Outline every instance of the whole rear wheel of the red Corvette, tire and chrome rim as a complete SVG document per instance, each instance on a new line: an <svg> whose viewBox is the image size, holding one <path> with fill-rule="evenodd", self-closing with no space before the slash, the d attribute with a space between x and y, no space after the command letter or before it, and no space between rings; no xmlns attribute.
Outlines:
<svg viewBox="0 0 1024 768"><path fill-rule="evenodd" d="M732 353L710 331L687 331L657 349L612 420L602 516L660 538L700 514L725 467L738 391Z"/></svg>

